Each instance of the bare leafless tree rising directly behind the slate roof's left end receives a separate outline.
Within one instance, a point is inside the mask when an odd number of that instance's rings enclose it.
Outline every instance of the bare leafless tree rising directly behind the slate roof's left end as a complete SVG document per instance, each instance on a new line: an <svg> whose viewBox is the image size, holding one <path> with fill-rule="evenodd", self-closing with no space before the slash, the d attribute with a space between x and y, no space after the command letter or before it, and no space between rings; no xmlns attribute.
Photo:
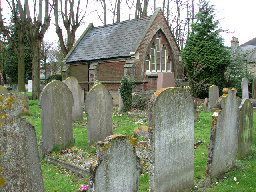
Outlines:
<svg viewBox="0 0 256 192"><path fill-rule="evenodd" d="M80 0L77 1L76 10L74 5L74 0L60 0L60 5L58 4L59 0L53 0L52 7L54 8L54 18L56 26L56 34L60 42L61 50L64 54L64 57L68 54L75 42L75 33L79 26L82 24L82 20L85 17L86 9L88 6L88 0L83 4L84 10L80 9ZM60 18L67 33L66 42L64 41L64 34L60 28Z"/></svg>

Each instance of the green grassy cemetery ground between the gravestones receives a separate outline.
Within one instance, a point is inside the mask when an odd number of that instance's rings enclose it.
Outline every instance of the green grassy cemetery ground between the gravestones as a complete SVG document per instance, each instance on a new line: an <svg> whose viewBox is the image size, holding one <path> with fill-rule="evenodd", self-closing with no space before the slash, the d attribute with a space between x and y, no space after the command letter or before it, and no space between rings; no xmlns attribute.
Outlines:
<svg viewBox="0 0 256 192"><path fill-rule="evenodd" d="M210 138L210 128L213 113L204 112L203 103L200 102L198 109L200 116L195 122L195 142L198 140L202 143L195 147L195 162L194 162L194 190L196 192L254 192L256 191L256 111L254 111L253 118L253 149L252 154L247 158L236 161L236 166L225 172L212 182L205 182L206 162L208 156L208 144ZM58 109L56 109L58 110ZM146 110L135 110L135 115L130 115L127 112L118 115L118 108L113 110L113 132L114 134L124 134L127 136L134 136L133 129L140 126L136 124L139 119L147 118L148 112ZM29 100L30 116L24 115L27 122L30 122L36 128L36 136L38 146L41 140L41 114L38 107L38 100ZM74 163L78 166L88 166L88 162L92 162L96 158L96 149L88 148L86 142L88 140L87 134L87 120L84 114L83 120L73 122L73 136L75 138L75 146L70 148L59 149L57 146L54 149L52 156L60 160ZM148 121L144 122L148 126ZM228 139L228 137L227 137ZM147 141L147 138L138 138L140 141ZM148 150L148 144L145 142L137 143L137 150ZM164 154L163 154L164 156ZM144 157L145 159L147 157ZM77 192L81 185L88 185L88 176L82 177L74 172L64 169L61 166L55 166L50 162L41 158L41 167L44 180L44 188L46 192ZM148 162L141 161L143 165L140 173L140 192L148 191ZM168 165L166 165L168 166Z"/></svg>

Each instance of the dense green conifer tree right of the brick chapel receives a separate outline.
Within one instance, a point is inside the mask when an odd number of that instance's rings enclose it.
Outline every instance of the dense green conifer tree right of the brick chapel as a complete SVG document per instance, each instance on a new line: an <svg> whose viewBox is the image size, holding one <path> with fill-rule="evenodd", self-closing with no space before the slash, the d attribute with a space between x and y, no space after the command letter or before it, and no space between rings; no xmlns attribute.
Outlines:
<svg viewBox="0 0 256 192"><path fill-rule="evenodd" d="M215 84L220 88L225 86L225 70L229 64L230 54L224 46L224 40L220 36L219 22L214 20L214 5L206 0L196 15L197 22L192 23L192 32L188 35L186 46L182 50L186 75L195 82L204 80L205 87ZM196 66L203 66L200 72L194 76ZM195 84L191 84L192 91L196 92ZM197 97L206 98L208 90L196 92Z"/></svg>

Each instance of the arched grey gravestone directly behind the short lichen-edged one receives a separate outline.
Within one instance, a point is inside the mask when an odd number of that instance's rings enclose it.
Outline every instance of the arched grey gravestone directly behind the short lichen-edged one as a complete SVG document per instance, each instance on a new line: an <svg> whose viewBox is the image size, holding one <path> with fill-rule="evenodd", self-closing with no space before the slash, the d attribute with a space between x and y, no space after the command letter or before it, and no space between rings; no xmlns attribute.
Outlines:
<svg viewBox="0 0 256 192"><path fill-rule="evenodd" d="M94 85L86 96L85 108L88 126L87 146L90 146L113 134L113 100L108 89L100 83Z"/></svg>

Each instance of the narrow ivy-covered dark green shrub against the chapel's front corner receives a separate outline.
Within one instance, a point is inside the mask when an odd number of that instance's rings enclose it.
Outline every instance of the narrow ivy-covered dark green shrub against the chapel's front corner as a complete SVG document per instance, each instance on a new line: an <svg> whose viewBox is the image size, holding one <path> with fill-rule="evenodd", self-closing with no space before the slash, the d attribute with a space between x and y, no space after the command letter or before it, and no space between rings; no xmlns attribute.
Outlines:
<svg viewBox="0 0 256 192"><path fill-rule="evenodd" d="M124 103L124 110L132 109L132 90L136 88L136 80L124 76L121 79L119 91Z"/></svg>

